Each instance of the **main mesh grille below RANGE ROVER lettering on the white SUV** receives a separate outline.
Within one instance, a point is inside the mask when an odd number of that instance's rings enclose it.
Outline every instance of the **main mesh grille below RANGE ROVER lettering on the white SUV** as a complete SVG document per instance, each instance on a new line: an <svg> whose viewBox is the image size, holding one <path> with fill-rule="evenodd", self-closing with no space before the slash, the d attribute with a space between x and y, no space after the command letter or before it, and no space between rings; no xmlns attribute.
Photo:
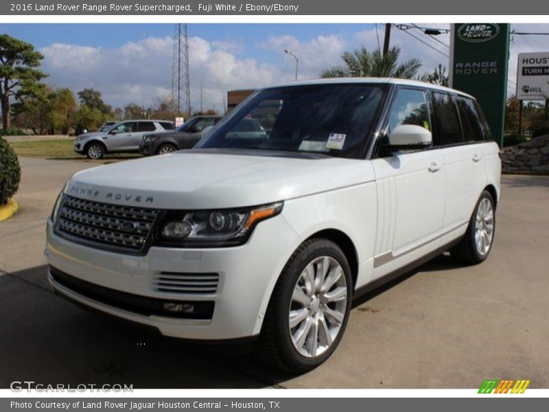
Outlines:
<svg viewBox="0 0 549 412"><path fill-rule="evenodd" d="M158 213L157 209L65 196L56 229L75 242L139 253L145 248Z"/></svg>

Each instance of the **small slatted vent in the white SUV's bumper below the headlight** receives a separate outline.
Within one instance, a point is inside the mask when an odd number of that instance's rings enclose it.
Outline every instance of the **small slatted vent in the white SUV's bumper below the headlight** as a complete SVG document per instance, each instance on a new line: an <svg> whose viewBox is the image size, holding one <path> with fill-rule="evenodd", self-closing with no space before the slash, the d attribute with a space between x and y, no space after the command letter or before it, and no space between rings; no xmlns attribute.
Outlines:
<svg viewBox="0 0 549 412"><path fill-rule="evenodd" d="M218 291L218 273L162 272L154 276L153 286L161 292L207 295Z"/></svg>

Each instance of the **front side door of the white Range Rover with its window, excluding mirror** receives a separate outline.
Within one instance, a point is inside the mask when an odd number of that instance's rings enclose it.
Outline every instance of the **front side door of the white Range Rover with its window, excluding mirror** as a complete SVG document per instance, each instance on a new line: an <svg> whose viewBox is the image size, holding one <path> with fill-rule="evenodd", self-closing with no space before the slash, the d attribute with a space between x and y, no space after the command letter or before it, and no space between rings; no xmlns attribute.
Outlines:
<svg viewBox="0 0 549 412"><path fill-rule="evenodd" d="M414 124L432 130L428 94L401 87L388 115L386 133ZM386 152L373 160L377 185L374 278L394 271L439 247L446 179L440 150Z"/></svg>

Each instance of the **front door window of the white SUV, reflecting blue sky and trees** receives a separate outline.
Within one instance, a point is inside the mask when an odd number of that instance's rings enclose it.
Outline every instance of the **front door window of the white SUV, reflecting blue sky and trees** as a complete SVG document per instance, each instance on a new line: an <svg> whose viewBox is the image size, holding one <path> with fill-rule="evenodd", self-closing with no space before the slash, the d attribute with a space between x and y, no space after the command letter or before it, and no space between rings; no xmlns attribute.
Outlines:
<svg viewBox="0 0 549 412"><path fill-rule="evenodd" d="M425 92L415 89L400 89L390 108L389 133L401 124L414 124L431 130Z"/></svg>

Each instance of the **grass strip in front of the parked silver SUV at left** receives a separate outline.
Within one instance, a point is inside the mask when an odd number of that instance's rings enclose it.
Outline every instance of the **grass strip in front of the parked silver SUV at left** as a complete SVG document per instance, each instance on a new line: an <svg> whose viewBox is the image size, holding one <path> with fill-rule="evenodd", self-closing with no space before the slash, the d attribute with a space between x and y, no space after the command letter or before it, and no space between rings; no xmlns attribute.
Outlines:
<svg viewBox="0 0 549 412"><path fill-rule="evenodd" d="M90 161L85 155L73 150L73 141L67 139L42 141L12 141L10 143L17 156L40 157L42 159L83 160ZM115 159L132 159L141 157L137 153L116 153L106 155L97 162L112 161Z"/></svg>

